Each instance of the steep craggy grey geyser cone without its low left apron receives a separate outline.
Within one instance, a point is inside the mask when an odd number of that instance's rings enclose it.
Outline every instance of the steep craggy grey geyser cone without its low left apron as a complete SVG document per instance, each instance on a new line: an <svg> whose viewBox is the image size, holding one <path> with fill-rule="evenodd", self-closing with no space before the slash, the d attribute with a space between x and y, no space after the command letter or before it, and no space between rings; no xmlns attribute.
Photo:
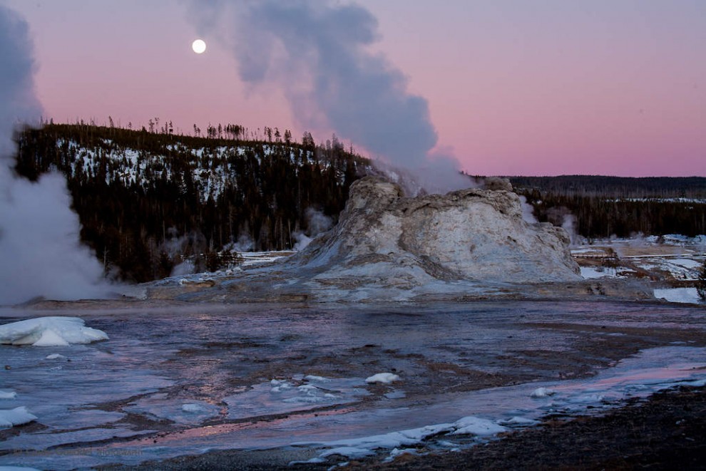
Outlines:
<svg viewBox="0 0 706 471"><path fill-rule="evenodd" d="M337 227L290 263L318 269L314 280L334 284L581 279L568 234L523 221L518 195L497 186L503 189L406 198L397 185L365 177L351 187Z"/></svg>

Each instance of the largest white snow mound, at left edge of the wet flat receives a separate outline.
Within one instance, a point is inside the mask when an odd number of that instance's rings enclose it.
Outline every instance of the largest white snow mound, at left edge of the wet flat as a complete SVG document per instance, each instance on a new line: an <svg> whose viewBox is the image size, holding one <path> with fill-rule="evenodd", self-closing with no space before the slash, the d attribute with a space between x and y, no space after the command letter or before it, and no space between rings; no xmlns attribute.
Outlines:
<svg viewBox="0 0 706 471"><path fill-rule="evenodd" d="M107 340L108 334L85 326L78 317L39 317L0 326L0 343L37 347L68 346Z"/></svg>

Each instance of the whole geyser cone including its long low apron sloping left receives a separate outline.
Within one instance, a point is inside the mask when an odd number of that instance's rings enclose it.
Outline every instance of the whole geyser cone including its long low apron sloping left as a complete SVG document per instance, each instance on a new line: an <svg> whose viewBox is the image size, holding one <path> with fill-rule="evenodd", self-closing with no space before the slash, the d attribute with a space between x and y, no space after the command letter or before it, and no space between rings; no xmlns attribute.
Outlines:
<svg viewBox="0 0 706 471"><path fill-rule="evenodd" d="M491 180L484 190L403 197L398 185L364 177L350 188L339 224L302 252L206 284L168 279L151 286L148 297L246 302L585 296L593 288L585 286L568 246L563 229L523 220L520 199L506 180Z"/></svg>

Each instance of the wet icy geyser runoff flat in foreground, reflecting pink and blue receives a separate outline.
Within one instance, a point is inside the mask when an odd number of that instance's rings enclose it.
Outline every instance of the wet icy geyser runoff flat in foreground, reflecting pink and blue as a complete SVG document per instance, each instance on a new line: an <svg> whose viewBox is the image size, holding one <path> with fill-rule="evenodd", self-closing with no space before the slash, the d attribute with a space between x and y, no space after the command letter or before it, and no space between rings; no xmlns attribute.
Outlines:
<svg viewBox="0 0 706 471"><path fill-rule="evenodd" d="M454 434L462 425L513 428L706 378L703 310L681 306L80 306L66 314L109 340L0 346L1 389L16 393L0 409L37 417L0 431L0 465L135 465L262 448L263 460L286 464L394 445L402 430L414 446L449 449L477 439ZM41 315L8 313L3 324ZM400 379L366 383L377 373ZM541 387L556 393L532 397ZM424 438L425 426L446 435Z"/></svg>

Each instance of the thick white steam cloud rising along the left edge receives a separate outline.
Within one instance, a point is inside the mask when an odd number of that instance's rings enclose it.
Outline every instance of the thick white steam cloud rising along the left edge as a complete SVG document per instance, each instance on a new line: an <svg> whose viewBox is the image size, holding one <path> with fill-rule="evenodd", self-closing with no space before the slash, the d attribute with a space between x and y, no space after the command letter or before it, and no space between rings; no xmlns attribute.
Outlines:
<svg viewBox="0 0 706 471"><path fill-rule="evenodd" d="M41 113L33 73L28 26L0 5L0 304L102 297L108 293L103 267L78 242L63 177L32 183L11 170L12 133Z"/></svg>

